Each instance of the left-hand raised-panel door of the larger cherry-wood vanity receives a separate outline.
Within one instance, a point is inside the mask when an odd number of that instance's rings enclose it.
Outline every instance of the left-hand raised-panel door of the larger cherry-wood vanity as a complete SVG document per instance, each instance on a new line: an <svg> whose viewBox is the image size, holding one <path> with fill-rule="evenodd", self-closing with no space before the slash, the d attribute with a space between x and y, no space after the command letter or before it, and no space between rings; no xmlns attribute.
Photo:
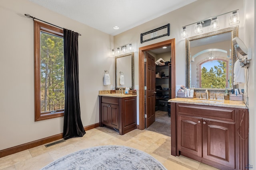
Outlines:
<svg viewBox="0 0 256 170"><path fill-rule="evenodd" d="M177 148L202 157L202 119L177 116Z"/></svg>

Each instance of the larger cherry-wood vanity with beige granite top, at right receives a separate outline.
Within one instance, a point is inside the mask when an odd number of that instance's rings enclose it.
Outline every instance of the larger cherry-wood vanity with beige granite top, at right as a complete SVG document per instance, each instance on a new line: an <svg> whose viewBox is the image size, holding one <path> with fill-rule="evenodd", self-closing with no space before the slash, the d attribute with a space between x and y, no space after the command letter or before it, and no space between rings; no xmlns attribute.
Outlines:
<svg viewBox="0 0 256 170"><path fill-rule="evenodd" d="M243 102L171 102L171 154L221 170L248 168L249 113Z"/></svg>

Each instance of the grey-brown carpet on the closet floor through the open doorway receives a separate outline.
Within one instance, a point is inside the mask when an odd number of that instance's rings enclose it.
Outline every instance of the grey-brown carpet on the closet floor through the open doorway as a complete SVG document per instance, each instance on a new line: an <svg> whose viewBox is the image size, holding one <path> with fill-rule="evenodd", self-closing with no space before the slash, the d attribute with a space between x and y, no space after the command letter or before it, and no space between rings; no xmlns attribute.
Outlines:
<svg viewBox="0 0 256 170"><path fill-rule="evenodd" d="M156 111L156 121L150 125L147 130L171 136L171 117L167 111Z"/></svg>

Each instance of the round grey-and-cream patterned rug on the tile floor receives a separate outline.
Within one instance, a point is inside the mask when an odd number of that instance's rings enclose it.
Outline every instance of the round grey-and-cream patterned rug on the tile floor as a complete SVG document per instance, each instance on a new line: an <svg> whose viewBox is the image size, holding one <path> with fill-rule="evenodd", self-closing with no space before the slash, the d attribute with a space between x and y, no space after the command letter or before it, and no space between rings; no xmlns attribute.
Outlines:
<svg viewBox="0 0 256 170"><path fill-rule="evenodd" d="M64 156L42 170L166 170L149 154L140 150L106 145Z"/></svg>

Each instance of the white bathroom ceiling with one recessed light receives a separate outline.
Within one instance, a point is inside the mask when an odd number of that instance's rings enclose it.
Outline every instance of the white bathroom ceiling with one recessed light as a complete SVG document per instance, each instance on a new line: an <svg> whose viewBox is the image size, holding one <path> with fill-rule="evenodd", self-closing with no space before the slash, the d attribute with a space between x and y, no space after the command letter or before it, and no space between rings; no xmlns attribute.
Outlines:
<svg viewBox="0 0 256 170"><path fill-rule="evenodd" d="M196 0L30 1L114 36Z"/></svg>

